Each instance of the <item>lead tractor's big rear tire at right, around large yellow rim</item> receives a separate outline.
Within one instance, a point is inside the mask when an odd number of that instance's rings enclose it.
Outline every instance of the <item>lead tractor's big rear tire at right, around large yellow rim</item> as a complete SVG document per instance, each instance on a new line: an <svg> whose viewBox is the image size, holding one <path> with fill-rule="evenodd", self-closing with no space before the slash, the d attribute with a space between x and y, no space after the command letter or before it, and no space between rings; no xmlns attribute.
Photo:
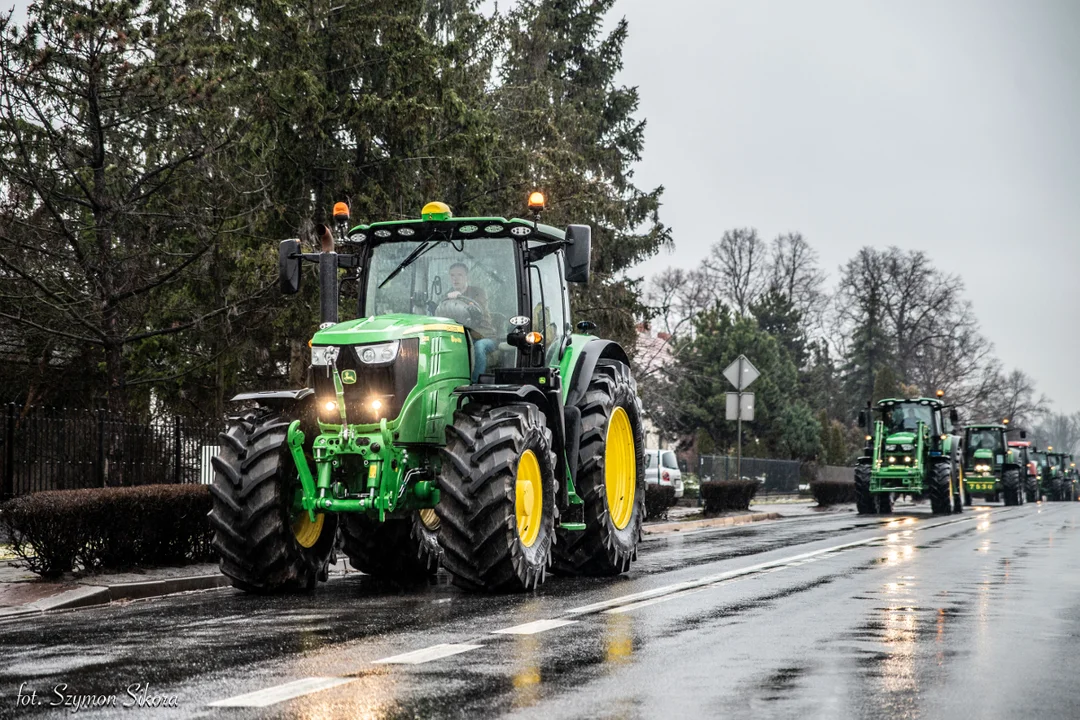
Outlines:
<svg viewBox="0 0 1080 720"><path fill-rule="evenodd" d="M581 446L575 485L578 495L585 503L585 529L558 530L554 569L559 574L567 575L617 575L629 570L631 560L637 558L637 543L642 538L642 520L645 517L642 406L630 368L617 361L599 361L579 407ZM608 431L618 408L625 412L634 445L632 449L624 448L633 453L634 495L627 508L630 515L622 520L621 528L612 520L605 483ZM617 452L619 448L612 446L611 450ZM629 476L624 477L629 479ZM618 503L618 499L616 502Z"/></svg>

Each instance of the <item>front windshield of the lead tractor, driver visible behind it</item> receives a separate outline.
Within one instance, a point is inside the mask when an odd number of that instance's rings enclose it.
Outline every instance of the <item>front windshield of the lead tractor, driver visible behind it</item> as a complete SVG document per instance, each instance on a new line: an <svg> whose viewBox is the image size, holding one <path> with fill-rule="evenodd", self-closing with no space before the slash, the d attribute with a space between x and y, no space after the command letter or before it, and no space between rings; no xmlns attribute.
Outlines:
<svg viewBox="0 0 1080 720"><path fill-rule="evenodd" d="M509 318L517 314L515 244L509 237L477 237L376 245L363 314L447 317L474 339L505 335Z"/></svg>

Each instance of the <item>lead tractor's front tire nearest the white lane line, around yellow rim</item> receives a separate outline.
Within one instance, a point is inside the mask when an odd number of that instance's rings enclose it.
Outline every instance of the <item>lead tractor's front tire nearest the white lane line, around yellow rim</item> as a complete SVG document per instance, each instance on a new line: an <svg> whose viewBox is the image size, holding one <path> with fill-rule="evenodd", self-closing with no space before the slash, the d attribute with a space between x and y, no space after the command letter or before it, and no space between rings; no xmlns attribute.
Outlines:
<svg viewBox="0 0 1080 720"><path fill-rule="evenodd" d="M438 544L455 585L519 590L543 582L555 540L555 453L535 405L470 403L446 427ZM531 451L542 490L539 531L530 544L517 527L518 465Z"/></svg>

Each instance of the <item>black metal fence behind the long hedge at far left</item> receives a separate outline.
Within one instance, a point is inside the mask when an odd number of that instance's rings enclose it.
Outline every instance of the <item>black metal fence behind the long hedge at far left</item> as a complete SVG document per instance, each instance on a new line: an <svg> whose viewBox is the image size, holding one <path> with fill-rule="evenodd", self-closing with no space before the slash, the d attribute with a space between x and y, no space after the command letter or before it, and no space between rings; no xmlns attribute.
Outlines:
<svg viewBox="0 0 1080 720"><path fill-rule="evenodd" d="M179 416L145 421L103 411L3 411L0 498L158 483L208 483L219 427Z"/></svg>

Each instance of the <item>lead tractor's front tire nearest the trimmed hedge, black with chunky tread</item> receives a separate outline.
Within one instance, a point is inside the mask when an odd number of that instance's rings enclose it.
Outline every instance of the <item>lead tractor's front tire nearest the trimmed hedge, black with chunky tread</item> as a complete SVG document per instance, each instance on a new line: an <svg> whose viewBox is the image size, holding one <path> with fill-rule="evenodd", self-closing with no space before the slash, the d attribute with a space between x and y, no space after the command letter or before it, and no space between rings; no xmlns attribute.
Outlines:
<svg viewBox="0 0 1080 720"><path fill-rule="evenodd" d="M337 517L320 514L321 529L313 529L307 527L302 512L292 508L300 487L285 441L293 419L270 408L231 418L220 435L220 454L212 460L214 549L221 558L221 572L247 593L310 590L318 580L326 579L334 555ZM307 440L313 439L307 433ZM294 531L294 521L312 532L307 546Z"/></svg>

